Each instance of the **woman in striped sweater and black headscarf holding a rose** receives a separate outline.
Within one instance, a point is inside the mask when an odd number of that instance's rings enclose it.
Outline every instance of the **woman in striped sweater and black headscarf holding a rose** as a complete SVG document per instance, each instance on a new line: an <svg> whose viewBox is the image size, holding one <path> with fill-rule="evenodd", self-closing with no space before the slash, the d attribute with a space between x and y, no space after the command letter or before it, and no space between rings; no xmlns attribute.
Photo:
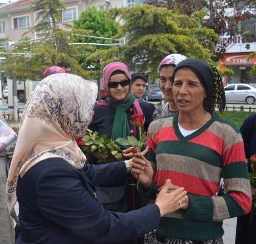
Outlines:
<svg viewBox="0 0 256 244"><path fill-rule="evenodd" d="M189 198L182 210L161 218L144 244L222 244L222 220L248 213L252 204L242 137L233 123L213 116L215 104L220 113L225 107L215 67L188 58L176 66L172 82L179 112L150 124L147 159L137 156L132 170L140 174L144 198L154 199L167 178L170 190L182 186ZM226 191L218 196L221 178Z"/></svg>

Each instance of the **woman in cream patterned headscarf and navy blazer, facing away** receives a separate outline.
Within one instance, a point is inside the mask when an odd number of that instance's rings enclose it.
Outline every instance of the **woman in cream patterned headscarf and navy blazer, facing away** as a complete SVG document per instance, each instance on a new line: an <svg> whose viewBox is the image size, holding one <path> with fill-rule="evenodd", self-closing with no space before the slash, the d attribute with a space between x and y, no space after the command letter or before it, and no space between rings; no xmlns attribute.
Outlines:
<svg viewBox="0 0 256 244"><path fill-rule="evenodd" d="M6 186L14 218L19 203L22 243L112 243L142 236L186 199L183 188L169 194L167 182L154 206L127 214L108 212L97 201L95 186L122 185L127 174L124 161L85 164L76 144L92 120L97 90L79 76L54 74L26 103Z"/></svg>

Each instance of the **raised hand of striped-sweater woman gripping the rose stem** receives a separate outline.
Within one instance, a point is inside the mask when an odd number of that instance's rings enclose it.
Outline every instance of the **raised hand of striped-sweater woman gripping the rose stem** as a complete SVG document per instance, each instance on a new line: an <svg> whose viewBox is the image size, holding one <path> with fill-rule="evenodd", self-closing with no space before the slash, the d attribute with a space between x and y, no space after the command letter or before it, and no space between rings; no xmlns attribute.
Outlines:
<svg viewBox="0 0 256 244"><path fill-rule="evenodd" d="M142 153L136 153L132 158L132 175L137 178L139 175L139 181L148 189L152 183L153 168L151 163L143 156Z"/></svg>

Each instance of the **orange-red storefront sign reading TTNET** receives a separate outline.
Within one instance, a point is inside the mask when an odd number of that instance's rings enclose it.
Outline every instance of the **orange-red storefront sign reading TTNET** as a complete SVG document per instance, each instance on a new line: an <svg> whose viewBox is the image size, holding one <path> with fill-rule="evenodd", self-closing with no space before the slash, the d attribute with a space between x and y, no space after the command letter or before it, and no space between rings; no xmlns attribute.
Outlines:
<svg viewBox="0 0 256 244"><path fill-rule="evenodd" d="M220 60L220 62L224 65L246 65L256 64L256 57L248 59L250 53L232 53L232 54L224 54L224 60Z"/></svg>

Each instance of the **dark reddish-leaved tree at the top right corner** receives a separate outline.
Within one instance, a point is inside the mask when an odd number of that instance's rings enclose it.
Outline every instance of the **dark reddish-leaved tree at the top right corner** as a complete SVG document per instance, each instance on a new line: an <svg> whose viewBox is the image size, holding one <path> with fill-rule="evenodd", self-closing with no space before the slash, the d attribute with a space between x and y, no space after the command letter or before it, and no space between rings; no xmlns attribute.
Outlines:
<svg viewBox="0 0 256 244"><path fill-rule="evenodd" d="M200 17L202 26L214 30L218 35L226 34L228 41L215 42L215 61L223 58L234 36L242 35L246 42L255 41L256 1L255 0L145 0L144 3L179 12L187 16L196 11L207 10L207 16ZM232 10L226 11L228 8ZM230 16L231 14L231 16Z"/></svg>

